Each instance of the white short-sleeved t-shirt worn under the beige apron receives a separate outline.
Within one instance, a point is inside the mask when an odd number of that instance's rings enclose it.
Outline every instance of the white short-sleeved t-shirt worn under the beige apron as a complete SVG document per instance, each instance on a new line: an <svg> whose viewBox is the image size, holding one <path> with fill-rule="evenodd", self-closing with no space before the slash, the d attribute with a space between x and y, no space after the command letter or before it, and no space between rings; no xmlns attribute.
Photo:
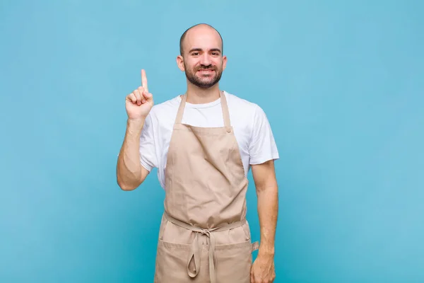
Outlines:
<svg viewBox="0 0 424 283"><path fill-rule="evenodd" d="M278 159L276 142L264 111L255 103L224 93L246 175L251 164ZM167 150L180 102L181 97L176 96L154 105L146 117L140 137L141 165L149 172L153 167L158 168L158 179L163 188ZM182 123L195 127L223 127L220 98L206 104L186 102Z"/></svg>

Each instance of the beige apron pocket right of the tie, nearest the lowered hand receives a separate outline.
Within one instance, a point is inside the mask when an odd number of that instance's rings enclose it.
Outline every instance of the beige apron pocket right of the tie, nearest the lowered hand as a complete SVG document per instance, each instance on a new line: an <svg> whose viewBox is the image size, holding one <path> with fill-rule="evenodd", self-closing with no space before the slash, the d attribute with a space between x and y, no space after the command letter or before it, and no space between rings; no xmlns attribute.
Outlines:
<svg viewBox="0 0 424 283"><path fill-rule="evenodd" d="M252 243L216 245L217 282L250 283Z"/></svg>

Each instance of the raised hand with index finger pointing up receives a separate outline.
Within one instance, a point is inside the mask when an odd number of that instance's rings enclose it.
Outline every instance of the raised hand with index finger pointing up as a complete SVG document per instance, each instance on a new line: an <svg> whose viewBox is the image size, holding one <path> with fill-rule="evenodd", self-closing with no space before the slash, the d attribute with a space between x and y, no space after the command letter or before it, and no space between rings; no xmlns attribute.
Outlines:
<svg viewBox="0 0 424 283"><path fill-rule="evenodd" d="M141 70L141 86L125 98L126 114L130 120L145 119L153 107L153 96L148 92L146 71Z"/></svg>

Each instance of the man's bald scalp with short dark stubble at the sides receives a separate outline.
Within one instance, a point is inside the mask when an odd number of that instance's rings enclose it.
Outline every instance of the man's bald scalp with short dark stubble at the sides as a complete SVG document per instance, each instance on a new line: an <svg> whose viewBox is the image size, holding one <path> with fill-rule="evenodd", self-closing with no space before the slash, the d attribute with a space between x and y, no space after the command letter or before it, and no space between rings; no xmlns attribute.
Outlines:
<svg viewBox="0 0 424 283"><path fill-rule="evenodd" d="M219 40L220 42L220 53L223 54L223 37L220 35L218 30L213 28L212 25L208 25L207 23L199 23L197 25L193 25L192 27L184 31L184 33L179 38L179 54L184 54L184 47L186 47L187 41L195 42L196 40L199 40L199 37L204 37L205 40L213 40L212 37L216 37L215 40Z"/></svg>

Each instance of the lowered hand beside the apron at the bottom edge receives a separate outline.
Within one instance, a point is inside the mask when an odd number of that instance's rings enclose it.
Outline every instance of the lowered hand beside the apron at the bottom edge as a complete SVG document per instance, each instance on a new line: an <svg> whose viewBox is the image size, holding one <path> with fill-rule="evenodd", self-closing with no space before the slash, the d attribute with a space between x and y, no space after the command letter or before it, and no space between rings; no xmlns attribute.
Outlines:
<svg viewBox="0 0 424 283"><path fill-rule="evenodd" d="M250 283L272 283L275 278L273 255L259 254L250 270Z"/></svg>

